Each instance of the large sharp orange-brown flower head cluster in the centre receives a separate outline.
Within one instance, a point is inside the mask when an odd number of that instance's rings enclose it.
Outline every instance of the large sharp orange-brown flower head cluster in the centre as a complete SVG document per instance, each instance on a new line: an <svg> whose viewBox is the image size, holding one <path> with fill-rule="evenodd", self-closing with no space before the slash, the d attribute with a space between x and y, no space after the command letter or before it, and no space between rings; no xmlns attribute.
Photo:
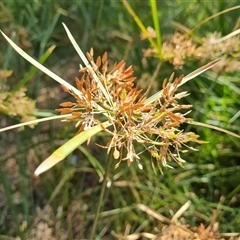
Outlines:
<svg viewBox="0 0 240 240"><path fill-rule="evenodd" d="M144 151L150 153L151 159L156 159L159 167L168 166L171 159L181 163L184 160L180 153L190 148L189 141L202 143L194 133L179 129L182 123L190 120L185 117L188 112L182 113L182 110L191 108L191 105L178 103L188 96L187 92L177 93L183 76L174 80L172 75L165 80L161 94L149 101L146 93L134 86L132 66L125 67L121 61L108 71L106 53L94 61L91 50L87 57L91 67L81 67L82 78L76 78L81 95L65 89L76 102L64 102L57 111L71 113L67 121L78 120L78 133L99 124L99 114L103 114L112 124L111 128L104 129L112 136L105 147L108 152L113 149L114 158L119 159L116 167L125 160L128 165L136 161L142 168L139 155ZM142 146L141 152L136 151L136 143Z"/></svg>

